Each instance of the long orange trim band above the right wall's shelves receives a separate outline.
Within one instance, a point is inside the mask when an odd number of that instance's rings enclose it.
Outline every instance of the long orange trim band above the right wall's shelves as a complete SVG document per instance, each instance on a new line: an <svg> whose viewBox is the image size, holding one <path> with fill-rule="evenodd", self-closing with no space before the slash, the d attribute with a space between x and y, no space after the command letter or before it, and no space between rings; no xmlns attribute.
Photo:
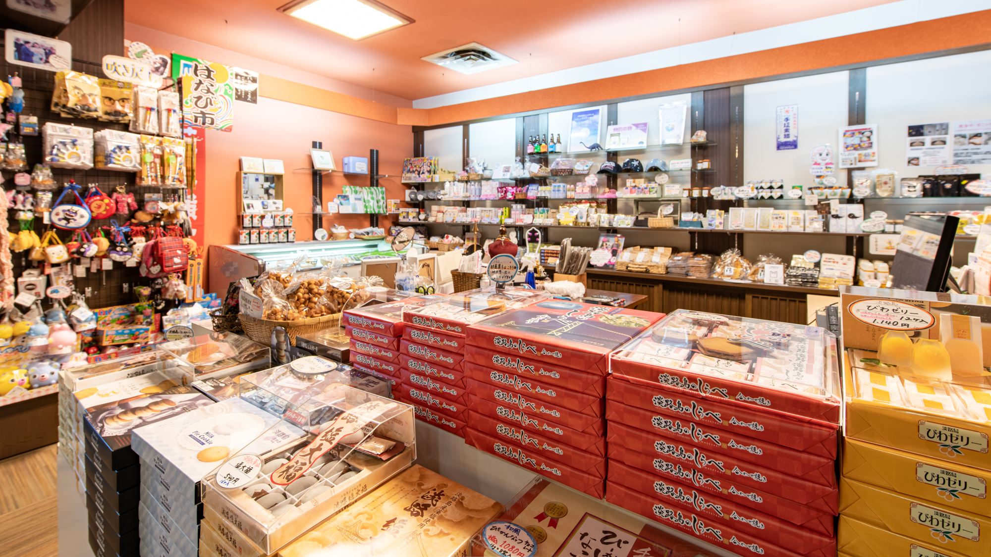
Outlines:
<svg viewBox="0 0 991 557"><path fill-rule="evenodd" d="M438 126L603 99L972 47L987 43L988 37L991 37L991 10L984 10L768 51L420 110L427 112L428 126Z"/></svg>

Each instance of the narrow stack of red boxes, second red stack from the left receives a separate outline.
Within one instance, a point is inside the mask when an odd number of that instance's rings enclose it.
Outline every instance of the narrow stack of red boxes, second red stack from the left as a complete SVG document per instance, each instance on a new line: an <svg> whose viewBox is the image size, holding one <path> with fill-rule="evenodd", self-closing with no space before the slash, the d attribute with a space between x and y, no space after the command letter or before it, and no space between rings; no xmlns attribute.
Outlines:
<svg viewBox="0 0 991 557"><path fill-rule="evenodd" d="M534 290L487 288L434 298L404 311L397 360L402 400L413 405L417 418L464 437L469 325L546 297Z"/></svg>

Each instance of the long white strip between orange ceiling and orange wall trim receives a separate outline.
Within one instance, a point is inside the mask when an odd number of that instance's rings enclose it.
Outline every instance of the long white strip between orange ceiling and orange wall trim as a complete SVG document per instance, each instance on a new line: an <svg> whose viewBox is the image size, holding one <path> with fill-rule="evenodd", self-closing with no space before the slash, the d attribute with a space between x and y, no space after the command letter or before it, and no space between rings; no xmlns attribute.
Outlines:
<svg viewBox="0 0 991 557"><path fill-rule="evenodd" d="M946 2L945 0L901 0L899 2L882 4L880 6L835 14L814 20L739 33L711 41L692 43L682 47L661 49L642 55L624 56L608 61L542 73L532 77L513 79L502 83L425 97L414 100L413 108L437 108L451 104L491 99L524 93L526 91L536 91L606 77L615 77L617 75L626 75L638 71L672 67L683 63L779 49L781 47L834 39L836 37L888 29L988 9L991 9L991 0L954 0L953 2ZM920 41L923 40L923 38L920 38Z"/></svg>

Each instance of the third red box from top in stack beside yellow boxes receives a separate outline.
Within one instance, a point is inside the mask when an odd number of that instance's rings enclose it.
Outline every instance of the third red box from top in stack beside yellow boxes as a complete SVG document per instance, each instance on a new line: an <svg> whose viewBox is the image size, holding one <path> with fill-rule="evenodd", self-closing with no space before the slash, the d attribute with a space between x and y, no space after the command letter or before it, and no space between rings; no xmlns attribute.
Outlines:
<svg viewBox="0 0 991 557"><path fill-rule="evenodd" d="M625 442L627 447L652 444L660 433L666 437L688 441L715 453L730 455L758 466L791 474L809 482L830 488L836 485L833 459L803 453L738 433L730 433L687 418L672 418L635 406L619 404L612 400L606 401L606 419L610 422L608 440ZM628 431L620 437L613 431L616 428L625 428Z"/></svg>

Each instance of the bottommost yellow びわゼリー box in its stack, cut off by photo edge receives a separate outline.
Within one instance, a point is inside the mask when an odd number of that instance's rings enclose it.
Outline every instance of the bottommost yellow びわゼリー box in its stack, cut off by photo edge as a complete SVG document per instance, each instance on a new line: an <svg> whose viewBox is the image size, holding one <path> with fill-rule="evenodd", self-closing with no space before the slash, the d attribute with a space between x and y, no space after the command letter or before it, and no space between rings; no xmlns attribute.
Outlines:
<svg viewBox="0 0 991 557"><path fill-rule="evenodd" d="M839 515L836 530L837 555L850 557L965 557L941 547L933 540L919 541Z"/></svg>

